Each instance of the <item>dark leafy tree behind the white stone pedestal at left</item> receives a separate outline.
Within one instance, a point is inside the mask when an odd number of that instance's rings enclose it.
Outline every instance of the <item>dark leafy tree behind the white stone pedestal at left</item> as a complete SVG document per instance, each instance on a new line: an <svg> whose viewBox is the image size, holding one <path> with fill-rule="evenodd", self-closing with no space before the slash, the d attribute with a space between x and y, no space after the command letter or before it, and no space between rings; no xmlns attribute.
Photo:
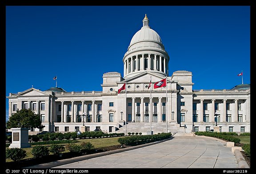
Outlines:
<svg viewBox="0 0 256 174"><path fill-rule="evenodd" d="M44 128L39 114L35 114L31 109L17 109L6 123L8 129L11 128Z"/></svg>

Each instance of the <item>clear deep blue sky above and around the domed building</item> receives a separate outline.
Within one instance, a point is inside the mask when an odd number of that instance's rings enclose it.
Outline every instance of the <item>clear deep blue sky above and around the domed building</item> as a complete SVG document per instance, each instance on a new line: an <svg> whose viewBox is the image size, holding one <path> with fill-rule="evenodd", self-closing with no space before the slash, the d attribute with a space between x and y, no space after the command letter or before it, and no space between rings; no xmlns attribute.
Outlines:
<svg viewBox="0 0 256 174"><path fill-rule="evenodd" d="M124 75L132 36L149 26L170 56L169 76L192 72L193 89L250 84L250 6L7 6L6 96L33 87L101 91ZM8 113L8 99L6 99Z"/></svg>

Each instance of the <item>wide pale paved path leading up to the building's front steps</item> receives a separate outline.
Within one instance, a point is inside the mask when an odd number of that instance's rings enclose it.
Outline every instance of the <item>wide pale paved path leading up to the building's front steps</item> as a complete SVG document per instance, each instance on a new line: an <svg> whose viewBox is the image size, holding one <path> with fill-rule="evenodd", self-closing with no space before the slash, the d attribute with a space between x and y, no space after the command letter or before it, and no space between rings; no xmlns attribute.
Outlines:
<svg viewBox="0 0 256 174"><path fill-rule="evenodd" d="M53 168L238 168L231 147L204 136L168 141Z"/></svg>

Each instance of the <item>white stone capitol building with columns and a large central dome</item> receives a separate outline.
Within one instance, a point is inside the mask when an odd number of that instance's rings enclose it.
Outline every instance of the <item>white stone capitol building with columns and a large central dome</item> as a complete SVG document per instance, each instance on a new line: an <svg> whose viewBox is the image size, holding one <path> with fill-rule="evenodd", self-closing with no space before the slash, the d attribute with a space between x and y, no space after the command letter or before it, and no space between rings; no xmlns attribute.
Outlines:
<svg viewBox="0 0 256 174"><path fill-rule="evenodd" d="M154 21L155 22L155 21ZM60 87L9 93L9 117L17 109L40 114L38 131L250 132L250 84L232 89L193 89L192 72L169 70L170 57L145 15L124 54L124 77L103 74L102 91L67 92ZM155 88L156 82L164 85ZM151 83L150 83L151 82Z"/></svg>

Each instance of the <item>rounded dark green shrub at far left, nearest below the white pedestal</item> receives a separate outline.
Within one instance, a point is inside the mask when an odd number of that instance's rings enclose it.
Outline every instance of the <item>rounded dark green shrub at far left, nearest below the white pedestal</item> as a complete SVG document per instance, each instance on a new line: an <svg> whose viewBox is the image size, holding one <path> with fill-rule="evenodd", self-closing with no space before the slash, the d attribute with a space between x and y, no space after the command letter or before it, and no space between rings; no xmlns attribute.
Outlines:
<svg viewBox="0 0 256 174"><path fill-rule="evenodd" d="M10 148L6 150L5 158L12 159L13 161L20 161L27 156L27 153L24 149L21 148Z"/></svg>

